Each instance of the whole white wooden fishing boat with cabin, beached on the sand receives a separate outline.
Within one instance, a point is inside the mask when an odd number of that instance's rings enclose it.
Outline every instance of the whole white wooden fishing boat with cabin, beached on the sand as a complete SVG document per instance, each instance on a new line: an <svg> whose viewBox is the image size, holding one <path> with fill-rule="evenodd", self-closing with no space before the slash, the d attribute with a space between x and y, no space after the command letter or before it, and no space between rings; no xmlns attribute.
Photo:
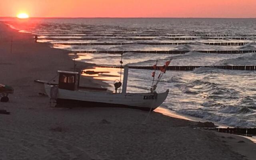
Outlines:
<svg viewBox="0 0 256 160"><path fill-rule="evenodd" d="M56 107L124 107L152 111L160 106L168 96L169 90L157 93L155 91L159 82L157 81L148 93L127 93L128 70L129 66L124 66L123 83L119 80L114 83L116 92L80 89L79 72L58 71L58 86L49 84L44 84L44 86L50 99L56 100ZM164 72L161 72L158 79L162 77L162 74ZM122 92L117 93L117 89L121 86Z"/></svg>

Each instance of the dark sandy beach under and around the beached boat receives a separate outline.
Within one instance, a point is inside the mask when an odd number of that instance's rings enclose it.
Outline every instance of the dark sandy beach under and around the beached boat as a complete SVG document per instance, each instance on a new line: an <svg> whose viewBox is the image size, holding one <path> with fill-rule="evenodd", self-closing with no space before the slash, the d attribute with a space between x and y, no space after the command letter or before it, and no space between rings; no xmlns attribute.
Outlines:
<svg viewBox="0 0 256 160"><path fill-rule="evenodd" d="M10 41L13 40L12 53ZM197 122L126 108L50 108L36 79L73 70L68 51L35 43L0 23L0 83L14 88L0 103L0 160L246 160L256 144L193 129ZM77 63L77 68L90 64ZM84 78L84 86L102 83ZM231 138L230 138L231 137ZM241 147L243 149L241 149Z"/></svg>

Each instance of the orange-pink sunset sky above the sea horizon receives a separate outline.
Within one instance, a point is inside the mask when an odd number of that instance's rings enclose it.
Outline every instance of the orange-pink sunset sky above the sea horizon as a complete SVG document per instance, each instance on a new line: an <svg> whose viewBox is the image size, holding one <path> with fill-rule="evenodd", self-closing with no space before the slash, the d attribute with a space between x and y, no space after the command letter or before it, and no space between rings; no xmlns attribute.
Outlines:
<svg viewBox="0 0 256 160"><path fill-rule="evenodd" d="M0 16L256 18L256 0L0 0Z"/></svg>

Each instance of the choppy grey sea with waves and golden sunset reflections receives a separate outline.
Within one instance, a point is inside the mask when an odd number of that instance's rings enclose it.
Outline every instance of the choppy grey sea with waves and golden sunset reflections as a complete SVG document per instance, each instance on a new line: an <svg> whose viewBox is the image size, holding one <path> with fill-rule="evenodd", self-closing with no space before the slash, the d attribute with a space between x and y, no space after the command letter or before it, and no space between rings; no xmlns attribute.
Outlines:
<svg viewBox="0 0 256 160"><path fill-rule="evenodd" d="M256 127L256 72L211 67L256 65L256 53L207 52L255 51L256 19L2 18L2 21L19 32L37 34L38 42L69 50L76 61L98 66L120 66L120 52L124 51L123 65L153 66L158 60L158 66L162 66L172 59L170 66L203 66L193 71L167 70L157 88L157 92L170 90L161 107L227 126ZM118 68L88 70L99 73L85 76L104 80L110 90L114 90L114 80L120 80ZM150 92L152 71L130 69L128 92ZM159 73L156 72L157 76Z"/></svg>

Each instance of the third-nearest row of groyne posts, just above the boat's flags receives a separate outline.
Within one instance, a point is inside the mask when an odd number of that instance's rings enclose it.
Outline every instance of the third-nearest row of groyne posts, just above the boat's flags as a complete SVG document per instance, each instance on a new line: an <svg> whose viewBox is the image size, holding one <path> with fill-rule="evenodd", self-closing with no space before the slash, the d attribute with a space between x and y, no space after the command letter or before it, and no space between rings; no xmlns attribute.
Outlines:
<svg viewBox="0 0 256 160"><path fill-rule="evenodd" d="M143 53L143 54L185 54L188 52L201 52L201 53L212 53L212 54L244 54L244 53L255 53L256 50L105 50L105 51L94 51L84 50L76 51L76 53L105 53L105 54L124 54L124 53Z"/></svg>

